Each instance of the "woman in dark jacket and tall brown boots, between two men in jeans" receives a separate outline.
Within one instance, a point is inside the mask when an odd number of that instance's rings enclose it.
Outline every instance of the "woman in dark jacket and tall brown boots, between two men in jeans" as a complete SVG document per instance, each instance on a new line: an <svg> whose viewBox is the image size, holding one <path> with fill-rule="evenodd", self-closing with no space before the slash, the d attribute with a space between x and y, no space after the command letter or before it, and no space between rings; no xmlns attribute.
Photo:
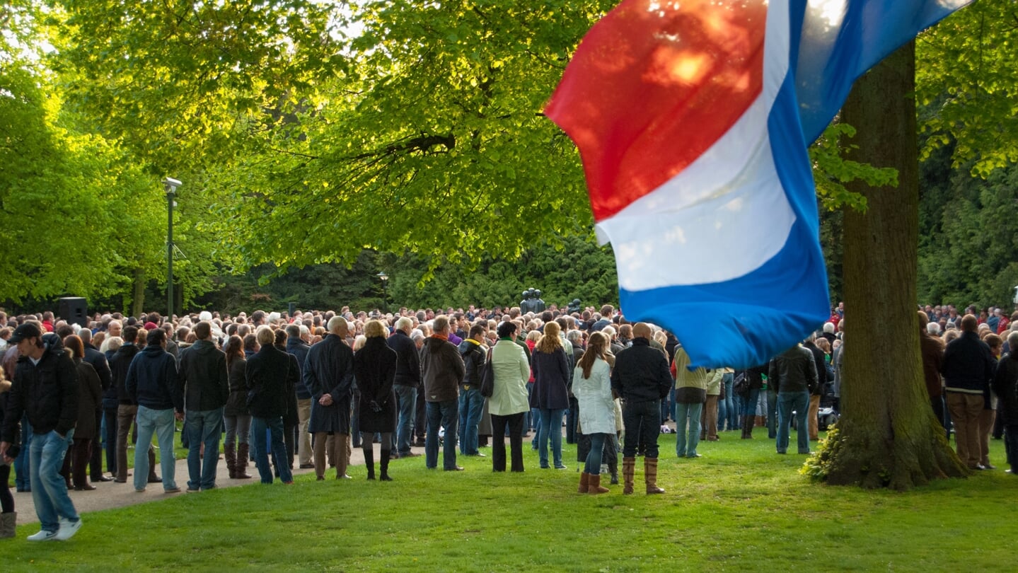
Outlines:
<svg viewBox="0 0 1018 573"><path fill-rule="evenodd" d="M226 399L226 406L223 408L223 426L226 429L223 457L226 458L230 479L249 479L247 439L250 434L251 416L247 412L248 388L247 380L244 378L247 360L244 359L243 339L237 335L231 336L226 341L223 352L226 354L226 370L230 381L230 397Z"/></svg>

